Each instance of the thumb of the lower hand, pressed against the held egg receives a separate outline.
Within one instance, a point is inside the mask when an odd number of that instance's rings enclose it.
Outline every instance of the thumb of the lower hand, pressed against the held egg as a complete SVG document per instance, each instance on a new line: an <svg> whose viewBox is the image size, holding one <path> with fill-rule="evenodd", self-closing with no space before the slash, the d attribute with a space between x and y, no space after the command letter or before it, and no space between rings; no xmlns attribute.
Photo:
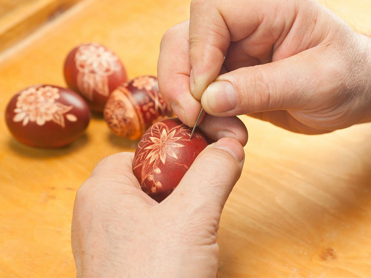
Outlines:
<svg viewBox="0 0 371 278"><path fill-rule="evenodd" d="M162 203L190 214L211 208L220 216L224 203L241 175L243 162L244 151L239 141L221 138L197 156L179 185Z"/></svg>

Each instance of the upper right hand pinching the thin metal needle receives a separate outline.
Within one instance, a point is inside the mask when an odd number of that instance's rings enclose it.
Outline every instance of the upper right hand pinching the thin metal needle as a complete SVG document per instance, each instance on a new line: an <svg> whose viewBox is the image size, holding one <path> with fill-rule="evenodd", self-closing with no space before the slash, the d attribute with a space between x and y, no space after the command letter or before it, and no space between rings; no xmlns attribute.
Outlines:
<svg viewBox="0 0 371 278"><path fill-rule="evenodd" d="M249 114L300 133L346 128L371 120L370 80L371 39L315 0L193 0L158 60L162 96L188 126L202 104L232 125Z"/></svg>

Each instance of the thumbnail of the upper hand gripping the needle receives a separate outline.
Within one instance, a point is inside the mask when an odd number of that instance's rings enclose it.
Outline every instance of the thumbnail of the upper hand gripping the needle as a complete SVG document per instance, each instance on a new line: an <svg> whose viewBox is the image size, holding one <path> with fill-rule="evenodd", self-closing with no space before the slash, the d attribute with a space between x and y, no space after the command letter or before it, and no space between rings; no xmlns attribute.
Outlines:
<svg viewBox="0 0 371 278"><path fill-rule="evenodd" d="M204 93L207 103L215 112L227 112L237 105L236 92L228 81L212 82Z"/></svg>

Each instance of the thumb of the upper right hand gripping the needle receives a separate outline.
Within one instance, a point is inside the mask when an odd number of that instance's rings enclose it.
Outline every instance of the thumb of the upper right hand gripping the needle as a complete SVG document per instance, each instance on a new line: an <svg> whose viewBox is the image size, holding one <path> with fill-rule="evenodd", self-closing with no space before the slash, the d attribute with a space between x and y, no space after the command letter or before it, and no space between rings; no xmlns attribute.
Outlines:
<svg viewBox="0 0 371 278"><path fill-rule="evenodd" d="M208 114L219 117L311 109L310 105L318 105L313 96L331 91L336 78L336 65L324 63L328 59L322 56L321 50L313 48L272 63L225 73L207 87L201 104Z"/></svg>

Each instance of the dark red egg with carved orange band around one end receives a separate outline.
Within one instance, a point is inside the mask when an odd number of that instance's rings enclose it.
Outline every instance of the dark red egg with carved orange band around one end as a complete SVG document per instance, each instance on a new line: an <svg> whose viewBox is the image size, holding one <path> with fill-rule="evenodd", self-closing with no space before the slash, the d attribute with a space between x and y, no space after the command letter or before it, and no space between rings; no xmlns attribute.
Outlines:
<svg viewBox="0 0 371 278"><path fill-rule="evenodd" d="M158 90L157 78L139 76L111 93L103 115L113 133L137 140L152 124L173 116L173 111Z"/></svg>

